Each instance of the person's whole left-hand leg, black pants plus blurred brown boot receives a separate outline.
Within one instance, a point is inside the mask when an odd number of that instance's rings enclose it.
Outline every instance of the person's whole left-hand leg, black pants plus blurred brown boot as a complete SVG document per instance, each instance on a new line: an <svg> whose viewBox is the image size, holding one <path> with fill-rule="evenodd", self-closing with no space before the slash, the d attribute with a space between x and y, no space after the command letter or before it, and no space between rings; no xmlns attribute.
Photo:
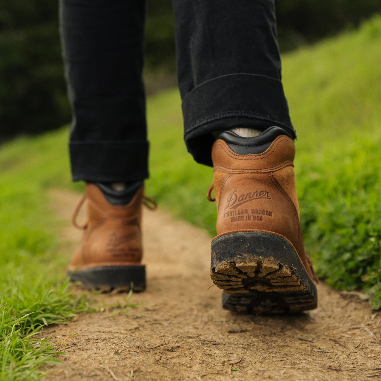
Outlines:
<svg viewBox="0 0 381 381"><path fill-rule="evenodd" d="M88 199L71 280L107 289L133 283L141 291L141 205L148 176L141 77L145 2L60 0L60 13L73 111L72 177L86 182Z"/></svg>

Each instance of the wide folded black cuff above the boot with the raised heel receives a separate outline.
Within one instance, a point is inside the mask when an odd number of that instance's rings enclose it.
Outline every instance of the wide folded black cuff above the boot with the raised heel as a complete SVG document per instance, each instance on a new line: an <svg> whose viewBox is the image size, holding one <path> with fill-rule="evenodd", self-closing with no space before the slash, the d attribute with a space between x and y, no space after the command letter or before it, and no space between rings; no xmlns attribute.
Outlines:
<svg viewBox="0 0 381 381"><path fill-rule="evenodd" d="M296 138L280 80L228 74L195 87L182 101L184 139L198 163L211 162L212 131L235 126L280 126Z"/></svg>

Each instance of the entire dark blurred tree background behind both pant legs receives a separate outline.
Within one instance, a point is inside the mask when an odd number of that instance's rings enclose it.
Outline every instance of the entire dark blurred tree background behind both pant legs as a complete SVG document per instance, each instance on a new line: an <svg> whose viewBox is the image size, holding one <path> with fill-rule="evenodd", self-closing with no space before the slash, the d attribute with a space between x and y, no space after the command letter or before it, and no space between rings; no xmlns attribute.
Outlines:
<svg viewBox="0 0 381 381"><path fill-rule="evenodd" d="M381 12L380 0L275 0L281 51L357 27ZM59 35L58 3L0 2L0 141L51 130L70 120ZM172 84L174 23L171 0L149 0L146 77ZM150 89L155 86L149 86Z"/></svg>

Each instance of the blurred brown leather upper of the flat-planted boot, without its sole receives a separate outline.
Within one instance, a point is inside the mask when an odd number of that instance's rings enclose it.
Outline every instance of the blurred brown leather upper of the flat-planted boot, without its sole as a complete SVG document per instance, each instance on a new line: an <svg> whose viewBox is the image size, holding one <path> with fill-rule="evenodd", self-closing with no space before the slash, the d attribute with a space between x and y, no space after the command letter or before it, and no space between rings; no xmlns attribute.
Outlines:
<svg viewBox="0 0 381 381"><path fill-rule="evenodd" d="M88 221L69 271L140 263L143 192L142 186L127 205L111 205L96 185L86 184Z"/></svg>

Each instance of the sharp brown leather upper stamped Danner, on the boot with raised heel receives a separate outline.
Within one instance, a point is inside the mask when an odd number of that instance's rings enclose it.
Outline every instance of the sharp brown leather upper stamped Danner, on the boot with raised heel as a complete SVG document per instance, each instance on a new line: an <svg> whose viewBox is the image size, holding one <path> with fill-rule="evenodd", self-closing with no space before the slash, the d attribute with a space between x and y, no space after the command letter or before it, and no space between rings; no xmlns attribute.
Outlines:
<svg viewBox="0 0 381 381"><path fill-rule="evenodd" d="M264 231L295 248L313 277L304 252L295 185L293 139L280 135L260 154L240 155L222 139L212 148L217 234Z"/></svg>

